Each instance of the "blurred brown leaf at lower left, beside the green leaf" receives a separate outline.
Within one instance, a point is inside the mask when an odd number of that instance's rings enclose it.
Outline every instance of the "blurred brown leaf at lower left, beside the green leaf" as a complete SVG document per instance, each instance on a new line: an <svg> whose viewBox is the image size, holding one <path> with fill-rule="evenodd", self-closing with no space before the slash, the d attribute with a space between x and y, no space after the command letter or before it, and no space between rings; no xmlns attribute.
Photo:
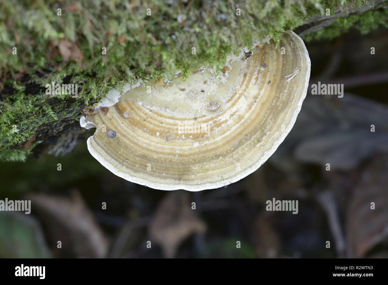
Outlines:
<svg viewBox="0 0 388 285"><path fill-rule="evenodd" d="M46 194L30 194L32 213L47 229L47 237L57 257L102 258L108 242L78 191L71 199ZM61 241L62 248L57 248Z"/></svg>

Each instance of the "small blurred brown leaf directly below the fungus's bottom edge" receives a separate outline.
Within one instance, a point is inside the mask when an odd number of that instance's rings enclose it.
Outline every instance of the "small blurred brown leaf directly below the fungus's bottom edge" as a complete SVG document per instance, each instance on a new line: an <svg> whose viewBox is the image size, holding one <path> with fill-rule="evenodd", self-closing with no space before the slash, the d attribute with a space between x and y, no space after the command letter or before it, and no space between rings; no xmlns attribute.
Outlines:
<svg viewBox="0 0 388 285"><path fill-rule="evenodd" d="M174 257L179 244L192 233L206 231L205 223L196 217L195 211L191 209L189 194L183 191L169 193L159 204L149 231L165 257Z"/></svg>

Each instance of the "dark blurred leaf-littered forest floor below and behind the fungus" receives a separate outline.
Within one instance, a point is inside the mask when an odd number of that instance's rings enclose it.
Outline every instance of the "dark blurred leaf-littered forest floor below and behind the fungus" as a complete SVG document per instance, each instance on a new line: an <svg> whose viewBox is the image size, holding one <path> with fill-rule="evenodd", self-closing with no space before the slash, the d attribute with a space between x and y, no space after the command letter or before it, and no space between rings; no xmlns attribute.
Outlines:
<svg viewBox="0 0 388 285"><path fill-rule="evenodd" d="M344 84L344 97L309 91L275 154L226 188L125 181L85 140L63 156L0 163L0 199L32 203L30 215L0 212L0 257L388 257L387 30L306 45L309 85ZM298 214L266 211L272 198L299 200Z"/></svg>

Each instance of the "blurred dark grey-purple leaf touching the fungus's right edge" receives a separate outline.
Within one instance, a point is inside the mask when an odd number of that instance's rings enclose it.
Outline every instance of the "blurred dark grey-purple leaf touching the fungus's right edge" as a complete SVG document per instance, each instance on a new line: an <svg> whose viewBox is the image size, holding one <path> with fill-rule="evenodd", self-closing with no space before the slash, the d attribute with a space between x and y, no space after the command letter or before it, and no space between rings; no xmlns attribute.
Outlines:
<svg viewBox="0 0 388 285"><path fill-rule="evenodd" d="M298 162L353 169L363 159L387 152L387 121L386 105L372 100L350 93L343 98L307 95L293 129L269 161L287 172Z"/></svg>

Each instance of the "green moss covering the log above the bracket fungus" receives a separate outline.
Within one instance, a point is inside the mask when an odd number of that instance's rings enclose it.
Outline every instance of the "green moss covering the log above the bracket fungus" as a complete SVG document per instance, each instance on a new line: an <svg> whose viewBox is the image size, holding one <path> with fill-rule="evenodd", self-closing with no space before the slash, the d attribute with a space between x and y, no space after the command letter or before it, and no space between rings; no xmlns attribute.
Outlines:
<svg viewBox="0 0 388 285"><path fill-rule="evenodd" d="M120 89L139 79L147 85L165 74L173 76L177 70L186 78L200 66L220 70L228 54L248 47L253 40L268 35L278 42L285 30L324 9L334 12L339 5L347 9L365 3L4 1L0 6L0 93L9 96L0 101L0 159L23 160L26 152L15 147L42 125L74 119L69 110L58 115L69 95L45 95L45 85L52 81L80 86L73 103L73 110L79 112L79 106L94 104L111 88ZM62 9L61 16L57 9ZM150 16L147 9L151 9ZM177 21L179 15L184 15L184 22ZM60 49L64 41L73 45L68 59ZM14 47L16 55L12 54Z"/></svg>

